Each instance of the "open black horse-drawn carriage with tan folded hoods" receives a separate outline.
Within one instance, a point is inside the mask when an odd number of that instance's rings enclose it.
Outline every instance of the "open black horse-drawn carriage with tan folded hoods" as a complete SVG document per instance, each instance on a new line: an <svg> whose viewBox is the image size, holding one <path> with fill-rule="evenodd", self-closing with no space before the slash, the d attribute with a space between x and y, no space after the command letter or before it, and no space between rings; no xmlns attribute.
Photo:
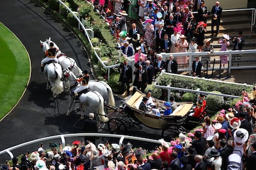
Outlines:
<svg viewBox="0 0 256 170"><path fill-rule="evenodd" d="M192 127L202 121L203 116L200 118L190 116L194 107L192 102L178 103L178 107L169 116L159 116L154 112L142 111L139 109L139 105L142 102L143 96L145 94L136 91L124 100L121 108L118 108L116 111L118 114L116 116L111 115L111 118L109 118L109 131L124 134L130 128L130 124L134 126L142 123L154 129L161 129L161 136L164 139L171 139L172 137L176 137L180 132L191 130ZM163 100L154 100L157 108L164 106ZM205 111L202 115L205 115Z"/></svg>

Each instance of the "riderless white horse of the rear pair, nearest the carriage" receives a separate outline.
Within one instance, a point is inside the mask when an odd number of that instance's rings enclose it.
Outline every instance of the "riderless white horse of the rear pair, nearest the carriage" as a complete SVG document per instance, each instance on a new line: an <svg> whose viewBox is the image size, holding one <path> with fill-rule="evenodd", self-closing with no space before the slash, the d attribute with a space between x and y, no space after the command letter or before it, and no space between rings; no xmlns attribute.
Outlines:
<svg viewBox="0 0 256 170"><path fill-rule="evenodd" d="M65 88L69 88L77 84L77 78L74 75L74 73L71 70L69 70L69 68L66 68L64 70L63 75L66 76L64 78ZM107 83L105 83L104 81L90 80L89 89L90 91L99 92L102 95L103 99L105 101L108 101L109 105L115 107L116 104L114 100L113 91Z"/></svg>

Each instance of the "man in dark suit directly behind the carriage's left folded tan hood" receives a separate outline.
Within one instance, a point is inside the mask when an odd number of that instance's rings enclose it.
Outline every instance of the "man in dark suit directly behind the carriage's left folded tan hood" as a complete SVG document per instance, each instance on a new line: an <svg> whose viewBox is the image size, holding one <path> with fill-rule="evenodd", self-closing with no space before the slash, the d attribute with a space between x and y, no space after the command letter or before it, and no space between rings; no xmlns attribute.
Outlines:
<svg viewBox="0 0 256 170"><path fill-rule="evenodd" d="M139 65L139 68L135 68L134 75L135 79L132 85L136 86L138 90L144 92L148 83L146 70L142 68L142 65Z"/></svg>

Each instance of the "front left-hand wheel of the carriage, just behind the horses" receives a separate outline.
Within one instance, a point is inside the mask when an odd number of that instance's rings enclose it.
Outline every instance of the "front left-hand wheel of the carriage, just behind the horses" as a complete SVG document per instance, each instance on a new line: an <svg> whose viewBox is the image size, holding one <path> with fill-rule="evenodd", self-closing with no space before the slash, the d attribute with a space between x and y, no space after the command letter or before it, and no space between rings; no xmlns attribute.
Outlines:
<svg viewBox="0 0 256 170"><path fill-rule="evenodd" d="M120 119L109 119L108 129L113 134L126 134L126 126L124 126L124 123Z"/></svg>

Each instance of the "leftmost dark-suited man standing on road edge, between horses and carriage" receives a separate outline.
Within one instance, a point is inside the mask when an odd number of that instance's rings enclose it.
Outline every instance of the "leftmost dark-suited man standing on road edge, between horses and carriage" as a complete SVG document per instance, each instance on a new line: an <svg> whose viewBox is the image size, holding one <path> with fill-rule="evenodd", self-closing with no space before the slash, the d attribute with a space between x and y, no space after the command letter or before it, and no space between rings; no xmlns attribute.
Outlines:
<svg viewBox="0 0 256 170"><path fill-rule="evenodd" d="M122 83L122 92L127 91L127 95L130 95L130 83L132 83L132 67L128 65L127 60L120 65L121 75L119 77L119 82ZM125 85L127 89L125 90Z"/></svg>

